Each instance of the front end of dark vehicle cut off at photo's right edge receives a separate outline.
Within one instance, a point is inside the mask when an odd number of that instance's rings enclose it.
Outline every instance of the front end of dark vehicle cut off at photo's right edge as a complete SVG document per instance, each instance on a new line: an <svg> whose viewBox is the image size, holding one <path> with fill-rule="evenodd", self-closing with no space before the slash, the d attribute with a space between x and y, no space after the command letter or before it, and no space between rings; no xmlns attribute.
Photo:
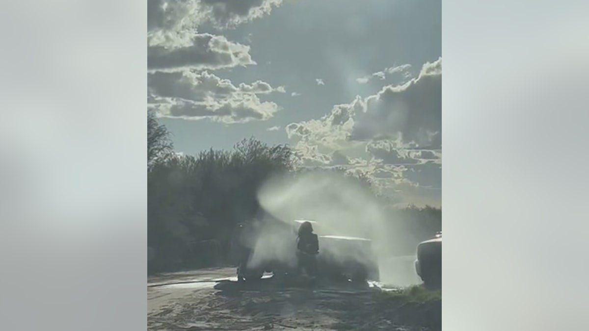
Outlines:
<svg viewBox="0 0 589 331"><path fill-rule="evenodd" d="M422 241L417 246L415 272L426 287L438 289L442 286L442 232L434 238Z"/></svg>

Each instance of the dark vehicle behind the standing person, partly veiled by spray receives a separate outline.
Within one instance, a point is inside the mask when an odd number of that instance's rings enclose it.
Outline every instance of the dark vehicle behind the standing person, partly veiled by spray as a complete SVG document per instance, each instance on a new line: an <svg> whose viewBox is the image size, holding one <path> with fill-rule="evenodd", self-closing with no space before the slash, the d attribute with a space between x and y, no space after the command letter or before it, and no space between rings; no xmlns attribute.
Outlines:
<svg viewBox="0 0 589 331"><path fill-rule="evenodd" d="M315 220L294 220L291 223L275 221L267 224L274 236L285 238L280 241L280 247L270 249L287 250L296 252L297 230L300 224L308 221L312 224L314 232L319 239L319 254L317 254L317 271L319 277L325 280L348 280L351 282L366 282L368 280L379 281L380 272L378 259L373 250L372 240L362 237L340 236L330 233ZM330 233L330 234L328 234ZM263 236L264 234L260 234ZM276 279L284 277L297 277L300 275L293 259L285 259L285 254L276 254L275 257L267 257L263 263L257 264L254 269L241 270L244 280L261 279L264 272L273 273ZM239 270L238 270L239 273Z"/></svg>

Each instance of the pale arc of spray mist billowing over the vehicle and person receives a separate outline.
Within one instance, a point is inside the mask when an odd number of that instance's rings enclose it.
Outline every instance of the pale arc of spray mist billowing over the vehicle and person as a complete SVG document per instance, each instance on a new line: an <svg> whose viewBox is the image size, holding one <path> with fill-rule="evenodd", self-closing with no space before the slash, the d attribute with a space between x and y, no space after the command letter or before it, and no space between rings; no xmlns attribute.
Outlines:
<svg viewBox="0 0 589 331"><path fill-rule="evenodd" d="M294 220L313 220L319 235L320 254L335 261L365 259L359 241L334 237L362 237L372 241L380 269L381 282L406 285L418 283L413 270L413 256L399 257L394 243L403 241L407 231L389 219L383 204L367 187L354 178L339 173L313 172L273 177L266 181L257 196L262 208L271 216L254 245L251 266L279 259L294 266L296 234L285 236L284 229L296 230ZM271 219L271 220L270 220ZM368 243L367 243L368 244Z"/></svg>

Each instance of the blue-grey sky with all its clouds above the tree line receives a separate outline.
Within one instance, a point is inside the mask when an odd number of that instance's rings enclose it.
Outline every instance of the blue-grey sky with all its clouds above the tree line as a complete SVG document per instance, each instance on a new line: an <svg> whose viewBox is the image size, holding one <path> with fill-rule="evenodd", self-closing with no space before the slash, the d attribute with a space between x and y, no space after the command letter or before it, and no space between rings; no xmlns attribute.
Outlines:
<svg viewBox="0 0 589 331"><path fill-rule="evenodd" d="M441 1L148 0L148 109L174 149L254 136L441 206Z"/></svg>

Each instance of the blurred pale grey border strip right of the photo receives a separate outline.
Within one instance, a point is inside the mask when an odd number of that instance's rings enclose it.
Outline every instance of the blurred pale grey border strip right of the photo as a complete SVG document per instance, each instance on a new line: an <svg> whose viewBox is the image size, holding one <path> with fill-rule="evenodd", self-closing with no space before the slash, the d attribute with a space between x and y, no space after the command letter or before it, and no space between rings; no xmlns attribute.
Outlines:
<svg viewBox="0 0 589 331"><path fill-rule="evenodd" d="M444 0L445 330L587 329L587 12Z"/></svg>

